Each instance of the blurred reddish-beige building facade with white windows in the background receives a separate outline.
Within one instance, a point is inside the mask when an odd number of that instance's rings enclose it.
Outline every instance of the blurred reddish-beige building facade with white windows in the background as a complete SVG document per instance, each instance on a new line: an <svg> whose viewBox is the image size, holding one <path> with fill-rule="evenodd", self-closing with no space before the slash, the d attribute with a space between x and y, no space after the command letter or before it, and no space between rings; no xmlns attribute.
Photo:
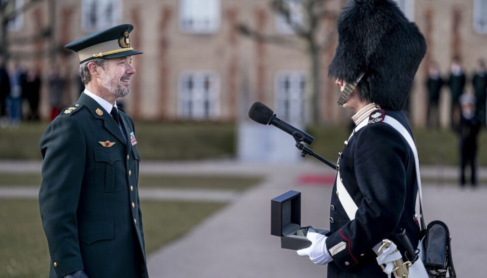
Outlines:
<svg viewBox="0 0 487 278"><path fill-rule="evenodd" d="M17 5L30 0L16 0ZM289 0L292 1L292 0ZM453 57L459 57L470 79L478 58L487 59L487 0L397 0L422 30L428 43L409 99L416 126L426 123L428 63L438 62L446 77ZM63 46L86 34L121 23L132 23L131 42L143 55L133 57L136 74L132 93L122 100L126 111L144 120L234 121L245 116L254 101L273 108L285 120L306 122L311 98L309 58L299 50L260 43L235 28L243 23L259 32L302 42L270 8L271 0L38 0L9 26L11 58L37 66L47 79L60 66L67 80L66 106L80 94L77 56ZM329 0L339 12L346 0ZM299 18L299 13L297 14ZM337 36L334 20L323 20L323 39L330 43L320 58L320 116L323 123L349 123L350 112L336 105L339 95L327 77ZM328 34L330 33L330 34ZM302 45L304 48L305 46ZM467 91L471 91L468 82ZM46 84L46 82L43 82ZM41 115L48 117L44 86ZM449 91L440 97L443 126L449 120Z"/></svg>

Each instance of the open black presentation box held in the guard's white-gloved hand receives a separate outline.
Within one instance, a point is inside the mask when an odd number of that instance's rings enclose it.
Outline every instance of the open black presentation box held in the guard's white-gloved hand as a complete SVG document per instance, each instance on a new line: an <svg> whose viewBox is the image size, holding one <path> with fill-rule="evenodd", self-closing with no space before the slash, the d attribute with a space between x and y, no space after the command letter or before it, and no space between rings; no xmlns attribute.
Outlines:
<svg viewBox="0 0 487 278"><path fill-rule="evenodd" d="M301 229L301 192L290 190L270 201L270 234L281 237L281 248L299 250L311 245ZM321 234L328 230L315 229Z"/></svg>

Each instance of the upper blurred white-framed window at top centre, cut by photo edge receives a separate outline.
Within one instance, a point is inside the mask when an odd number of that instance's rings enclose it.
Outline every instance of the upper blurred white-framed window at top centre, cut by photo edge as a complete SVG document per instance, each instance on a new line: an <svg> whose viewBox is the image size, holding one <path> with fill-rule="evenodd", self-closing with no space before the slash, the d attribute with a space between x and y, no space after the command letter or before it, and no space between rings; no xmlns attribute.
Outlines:
<svg viewBox="0 0 487 278"><path fill-rule="evenodd" d="M180 27L190 33L213 33L220 26L220 0L181 0Z"/></svg>

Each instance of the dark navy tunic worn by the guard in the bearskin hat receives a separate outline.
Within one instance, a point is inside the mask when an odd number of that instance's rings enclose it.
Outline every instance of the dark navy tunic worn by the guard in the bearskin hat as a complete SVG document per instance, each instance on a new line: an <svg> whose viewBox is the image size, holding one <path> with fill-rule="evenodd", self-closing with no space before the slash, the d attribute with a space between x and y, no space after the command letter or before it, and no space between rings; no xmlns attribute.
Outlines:
<svg viewBox="0 0 487 278"><path fill-rule="evenodd" d="M385 111L411 133L402 112ZM366 118L365 121L368 119ZM340 176L358 211L350 221L333 186L328 249L345 244L330 254L328 277L387 277L375 260L372 248L382 239L406 229L413 246L418 245L415 220L418 191L414 156L402 135L383 122L360 129L343 148Z"/></svg>

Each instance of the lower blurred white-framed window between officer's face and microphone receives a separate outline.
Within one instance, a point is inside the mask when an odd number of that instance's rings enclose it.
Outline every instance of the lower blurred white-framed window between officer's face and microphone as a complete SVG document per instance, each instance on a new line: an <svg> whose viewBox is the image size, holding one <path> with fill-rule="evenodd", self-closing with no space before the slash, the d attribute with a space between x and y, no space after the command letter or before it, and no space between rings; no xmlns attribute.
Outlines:
<svg viewBox="0 0 487 278"><path fill-rule="evenodd" d="M183 73L179 79L179 116L214 119L220 114L219 79L214 73Z"/></svg>

